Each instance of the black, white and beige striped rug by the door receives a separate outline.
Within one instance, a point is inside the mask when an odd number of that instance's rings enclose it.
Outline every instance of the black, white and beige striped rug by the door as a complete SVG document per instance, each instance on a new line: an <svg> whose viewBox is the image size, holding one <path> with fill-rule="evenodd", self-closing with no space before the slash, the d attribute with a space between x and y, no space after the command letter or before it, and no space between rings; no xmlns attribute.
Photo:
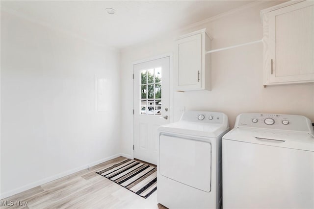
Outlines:
<svg viewBox="0 0 314 209"><path fill-rule="evenodd" d="M144 198L157 190L157 168L138 161L128 159L96 173Z"/></svg>

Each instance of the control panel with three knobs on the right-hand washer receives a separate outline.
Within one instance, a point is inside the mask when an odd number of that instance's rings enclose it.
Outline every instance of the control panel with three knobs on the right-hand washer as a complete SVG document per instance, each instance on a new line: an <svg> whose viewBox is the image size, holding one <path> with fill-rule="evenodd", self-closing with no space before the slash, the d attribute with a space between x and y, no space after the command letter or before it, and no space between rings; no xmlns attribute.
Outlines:
<svg viewBox="0 0 314 209"><path fill-rule="evenodd" d="M312 122L305 116L283 114L241 114L236 117L235 127L252 127L305 131L313 133Z"/></svg>

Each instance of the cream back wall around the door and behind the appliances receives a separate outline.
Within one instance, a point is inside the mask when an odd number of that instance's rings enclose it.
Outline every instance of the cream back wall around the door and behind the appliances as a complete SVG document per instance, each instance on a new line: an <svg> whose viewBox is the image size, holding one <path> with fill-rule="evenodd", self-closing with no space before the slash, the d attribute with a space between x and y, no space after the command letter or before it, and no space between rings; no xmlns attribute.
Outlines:
<svg viewBox="0 0 314 209"><path fill-rule="evenodd" d="M132 101L132 62L173 51L174 40L187 32L206 27L213 36L212 49L262 39L260 10L279 2L257 2L253 7L221 15L182 31L121 53L122 98ZM223 112L232 128L241 113L279 113L304 115L314 121L314 84L262 85L262 44L238 47L211 56L212 91L173 93L174 121L180 118L178 107L185 110ZM175 77L175 76L174 76ZM122 152L131 154L132 102L122 104Z"/></svg>

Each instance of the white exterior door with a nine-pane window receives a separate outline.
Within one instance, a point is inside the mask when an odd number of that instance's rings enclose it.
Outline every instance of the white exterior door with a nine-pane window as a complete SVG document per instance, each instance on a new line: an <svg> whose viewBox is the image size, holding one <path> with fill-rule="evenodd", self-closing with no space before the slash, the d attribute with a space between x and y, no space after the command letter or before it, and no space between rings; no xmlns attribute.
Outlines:
<svg viewBox="0 0 314 209"><path fill-rule="evenodd" d="M134 158L157 164L157 128L170 122L170 57L133 66Z"/></svg>

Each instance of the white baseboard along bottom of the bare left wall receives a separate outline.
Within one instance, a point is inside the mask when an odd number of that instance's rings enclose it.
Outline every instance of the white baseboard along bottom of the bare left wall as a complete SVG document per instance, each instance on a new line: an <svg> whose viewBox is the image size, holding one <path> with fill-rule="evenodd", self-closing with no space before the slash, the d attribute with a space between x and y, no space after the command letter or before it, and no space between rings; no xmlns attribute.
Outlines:
<svg viewBox="0 0 314 209"><path fill-rule="evenodd" d="M51 176L51 177L48 177L48 178L45 178L45 179L42 179L42 180L39 180L39 181L30 183L30 184L27 184L27 185L25 185L25 186L21 186L21 187L19 187L19 188L15 188L15 189L12 189L12 190L7 191L7 192L1 192L1 193L0 193L0 200L2 200L3 198L7 198L7 197L9 197L9 196L12 196L12 195L14 195L14 194L17 194L17 193L26 191L27 189L31 189L31 188L34 188L34 187L36 187L36 186L40 186L40 185L46 184L46 183L48 183L48 182L54 181L54 180L56 180L56 179L65 177L65 176L67 176L67 175L76 173L76 172L78 172L78 171L80 171L80 170L83 170L83 169L88 168L89 166L94 166L94 165L97 165L97 164L99 164L99 163L104 163L104 162L106 162L106 161L112 160L112 159L117 158L117 157L120 157L120 156L126 157L127 155L118 153L118 154L112 155L112 156L110 156L110 157L101 159L101 160L99 160L99 161L95 161L95 162L92 162L92 163L88 163L88 164L79 166L79 167L77 167L77 168L74 168L74 169L71 169L71 170L68 170L68 171L59 173L59 174L57 174L57 175L54 175L54 176ZM129 157L126 157L126 158L129 158Z"/></svg>

